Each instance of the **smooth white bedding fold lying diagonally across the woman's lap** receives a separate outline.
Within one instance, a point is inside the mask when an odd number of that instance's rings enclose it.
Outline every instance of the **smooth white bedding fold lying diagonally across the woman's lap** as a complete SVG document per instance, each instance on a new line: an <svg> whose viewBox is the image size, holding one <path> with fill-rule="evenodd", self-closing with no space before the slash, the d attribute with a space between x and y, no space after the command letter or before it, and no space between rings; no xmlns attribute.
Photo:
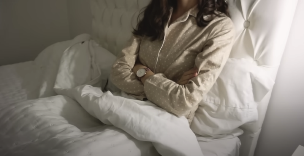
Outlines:
<svg viewBox="0 0 304 156"><path fill-rule="evenodd" d="M140 141L150 141L163 156L202 156L185 117L178 118L150 102L102 93L89 85L61 92L78 101L95 118L121 128Z"/></svg>

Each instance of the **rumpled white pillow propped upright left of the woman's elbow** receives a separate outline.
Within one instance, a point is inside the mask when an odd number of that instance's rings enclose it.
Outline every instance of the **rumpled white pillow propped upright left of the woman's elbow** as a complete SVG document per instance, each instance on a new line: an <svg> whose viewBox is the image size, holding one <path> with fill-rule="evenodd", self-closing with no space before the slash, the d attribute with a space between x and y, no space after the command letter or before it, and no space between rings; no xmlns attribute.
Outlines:
<svg viewBox="0 0 304 156"><path fill-rule="evenodd" d="M59 94L64 89L87 84L103 90L115 60L112 53L94 40L75 44L62 55L54 89Z"/></svg>

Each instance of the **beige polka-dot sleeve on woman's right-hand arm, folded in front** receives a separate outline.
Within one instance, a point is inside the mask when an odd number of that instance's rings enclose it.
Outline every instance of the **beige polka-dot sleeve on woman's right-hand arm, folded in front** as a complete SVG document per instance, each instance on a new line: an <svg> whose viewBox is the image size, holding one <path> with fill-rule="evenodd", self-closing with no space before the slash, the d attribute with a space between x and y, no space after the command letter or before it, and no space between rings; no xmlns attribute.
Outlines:
<svg viewBox="0 0 304 156"><path fill-rule="evenodd" d="M229 19L230 20L230 19ZM177 116L187 115L197 108L203 95L210 90L225 65L233 45L235 31L232 22L214 29L201 53L195 58L198 76L186 85L178 85L164 74L150 76L144 83L147 98Z"/></svg>

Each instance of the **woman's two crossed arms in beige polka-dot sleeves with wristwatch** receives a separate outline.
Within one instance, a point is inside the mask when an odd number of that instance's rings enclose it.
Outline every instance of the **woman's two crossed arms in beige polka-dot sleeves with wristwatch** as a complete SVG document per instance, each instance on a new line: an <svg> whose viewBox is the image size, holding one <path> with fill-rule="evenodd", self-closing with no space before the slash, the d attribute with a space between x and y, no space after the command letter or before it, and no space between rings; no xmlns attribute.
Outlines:
<svg viewBox="0 0 304 156"><path fill-rule="evenodd" d="M222 36L230 36L222 38ZM138 80L136 72L146 68L136 64L139 53L140 38L132 37L126 48L118 56L113 65L111 79L121 90L136 98L147 98L157 106L177 116L184 116L197 107L212 87L227 58L234 39L232 29L216 32L210 38L195 59L197 69L184 73L181 79L174 82L162 73L147 74ZM216 56L216 57L215 57Z"/></svg>

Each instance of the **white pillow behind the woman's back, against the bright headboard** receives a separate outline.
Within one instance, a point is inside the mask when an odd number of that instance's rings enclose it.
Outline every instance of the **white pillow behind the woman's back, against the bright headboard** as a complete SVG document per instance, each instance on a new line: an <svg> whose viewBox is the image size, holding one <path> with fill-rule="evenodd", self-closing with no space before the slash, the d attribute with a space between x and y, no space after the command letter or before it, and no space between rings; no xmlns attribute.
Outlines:
<svg viewBox="0 0 304 156"><path fill-rule="evenodd" d="M274 81L254 63L229 58L219 78L195 112L191 129L200 141L233 138L243 133L241 125L257 121L257 102Z"/></svg>

